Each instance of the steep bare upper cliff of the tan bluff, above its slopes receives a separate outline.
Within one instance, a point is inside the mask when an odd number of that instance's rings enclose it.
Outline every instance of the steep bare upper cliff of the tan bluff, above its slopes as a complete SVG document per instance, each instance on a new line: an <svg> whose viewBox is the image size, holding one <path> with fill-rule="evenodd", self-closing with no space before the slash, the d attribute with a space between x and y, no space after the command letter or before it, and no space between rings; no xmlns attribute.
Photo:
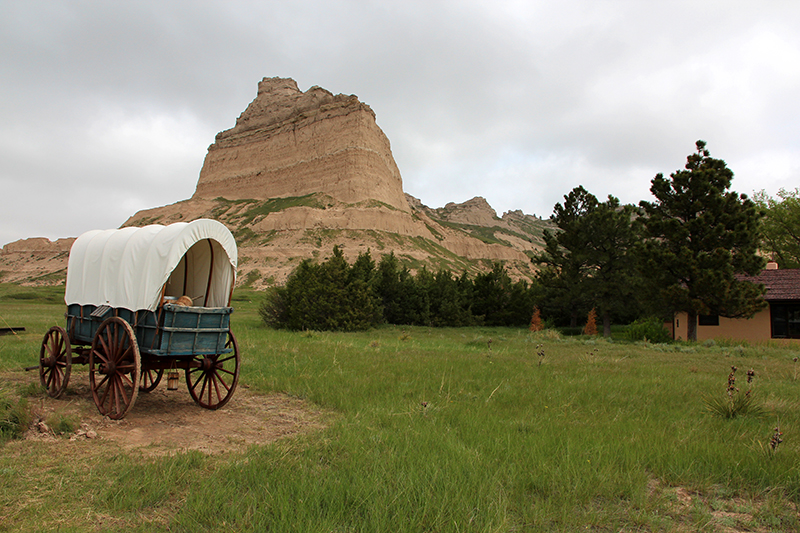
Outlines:
<svg viewBox="0 0 800 533"><path fill-rule="evenodd" d="M193 198L268 199L324 192L345 204L409 207L389 140L358 97L264 78L208 149Z"/></svg>

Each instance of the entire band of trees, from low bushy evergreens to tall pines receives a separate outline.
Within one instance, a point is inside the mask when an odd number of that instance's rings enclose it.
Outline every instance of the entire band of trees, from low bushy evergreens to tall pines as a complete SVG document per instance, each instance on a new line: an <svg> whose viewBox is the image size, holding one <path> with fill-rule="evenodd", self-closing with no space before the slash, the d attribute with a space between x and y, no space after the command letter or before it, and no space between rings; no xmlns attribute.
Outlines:
<svg viewBox="0 0 800 533"><path fill-rule="evenodd" d="M501 264L490 272L412 274L394 254L376 265L369 252L351 266L336 247L323 263L303 261L261 306L264 321L289 329L357 330L380 323L524 326L534 308L549 325L577 327L590 310L604 335L613 322L688 314L690 340L699 315L750 317L764 288L741 279L764 267L800 264L800 198L754 200L730 191L733 172L703 141L685 167L656 175L654 200L622 205L574 188L553 209L556 231L532 258L536 279L514 282ZM787 230L786 225L792 225Z"/></svg>

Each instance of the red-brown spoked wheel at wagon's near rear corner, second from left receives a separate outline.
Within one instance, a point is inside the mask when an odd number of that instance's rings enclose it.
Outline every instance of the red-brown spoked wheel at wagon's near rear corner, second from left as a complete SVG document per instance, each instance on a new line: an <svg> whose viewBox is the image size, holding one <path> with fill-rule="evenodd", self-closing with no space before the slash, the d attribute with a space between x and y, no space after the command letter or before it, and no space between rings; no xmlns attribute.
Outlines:
<svg viewBox="0 0 800 533"><path fill-rule="evenodd" d="M119 420L139 393L142 360L133 328L119 317L97 328L89 352L89 386L101 415Z"/></svg>

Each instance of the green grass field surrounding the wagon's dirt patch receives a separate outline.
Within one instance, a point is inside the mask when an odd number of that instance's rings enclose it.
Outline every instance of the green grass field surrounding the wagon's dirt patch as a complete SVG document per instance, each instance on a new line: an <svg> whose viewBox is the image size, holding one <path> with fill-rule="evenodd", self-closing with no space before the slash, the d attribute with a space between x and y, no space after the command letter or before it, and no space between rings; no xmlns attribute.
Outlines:
<svg viewBox="0 0 800 533"><path fill-rule="evenodd" d="M62 294L0 285L0 322L27 328L0 337L0 373L36 363ZM6 441L0 531L800 530L800 345L293 333L260 325L259 298L235 295L242 383L335 411L327 429L221 456ZM707 411L734 365L762 415Z"/></svg>

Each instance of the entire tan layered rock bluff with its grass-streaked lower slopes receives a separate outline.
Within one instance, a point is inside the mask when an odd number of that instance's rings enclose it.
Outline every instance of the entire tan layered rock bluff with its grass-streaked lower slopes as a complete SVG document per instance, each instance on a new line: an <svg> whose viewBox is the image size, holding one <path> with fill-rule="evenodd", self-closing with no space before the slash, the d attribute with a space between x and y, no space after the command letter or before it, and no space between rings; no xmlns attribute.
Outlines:
<svg viewBox="0 0 800 533"><path fill-rule="evenodd" d="M394 252L412 270L474 274L501 261L514 277L530 277L529 256L548 225L521 211L498 217L483 198L424 206L404 194L389 140L368 105L320 87L302 92L285 78L264 78L236 125L217 134L192 198L140 211L123 226L196 218L231 229L238 283L254 287L283 282L302 259L322 259L334 245L351 260L367 249L376 261ZM4 247L2 281L63 279L66 254L33 244ZM45 256L47 272L37 266Z"/></svg>

